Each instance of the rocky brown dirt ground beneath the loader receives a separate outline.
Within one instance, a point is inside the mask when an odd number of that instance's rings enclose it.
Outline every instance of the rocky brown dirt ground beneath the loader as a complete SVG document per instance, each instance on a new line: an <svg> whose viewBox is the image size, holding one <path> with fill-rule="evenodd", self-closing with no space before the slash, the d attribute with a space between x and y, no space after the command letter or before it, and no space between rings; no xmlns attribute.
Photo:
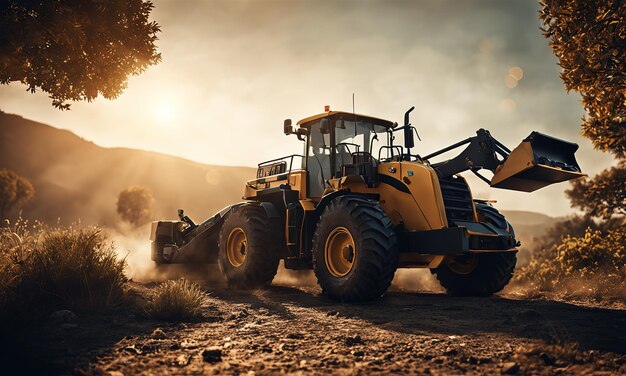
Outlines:
<svg viewBox="0 0 626 376"><path fill-rule="evenodd" d="M152 285L135 284L141 295ZM48 374L626 374L626 311L512 295L392 291L340 304L315 287L215 285L205 317L120 310L25 334L4 369ZM36 338L36 339L35 339Z"/></svg>

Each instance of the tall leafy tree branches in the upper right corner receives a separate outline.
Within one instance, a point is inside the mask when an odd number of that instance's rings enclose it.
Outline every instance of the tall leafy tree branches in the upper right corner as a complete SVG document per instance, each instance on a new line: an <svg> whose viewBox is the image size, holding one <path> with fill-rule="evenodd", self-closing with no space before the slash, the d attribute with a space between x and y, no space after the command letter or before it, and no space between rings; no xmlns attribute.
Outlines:
<svg viewBox="0 0 626 376"><path fill-rule="evenodd" d="M565 87L582 95L582 134L625 158L626 2L544 0L540 19Z"/></svg>

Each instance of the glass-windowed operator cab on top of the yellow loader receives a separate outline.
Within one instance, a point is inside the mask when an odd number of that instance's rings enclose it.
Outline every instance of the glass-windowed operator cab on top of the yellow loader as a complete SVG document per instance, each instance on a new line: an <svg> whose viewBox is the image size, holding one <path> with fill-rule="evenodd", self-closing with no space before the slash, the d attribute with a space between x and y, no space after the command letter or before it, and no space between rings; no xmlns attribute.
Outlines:
<svg viewBox="0 0 626 376"><path fill-rule="evenodd" d="M390 129L396 126L389 120L329 111L297 124L308 133L302 168L307 170L311 197L321 197L330 179L343 176L360 175L366 184L375 185L381 154L386 158L394 154L394 149L386 146L392 137Z"/></svg>

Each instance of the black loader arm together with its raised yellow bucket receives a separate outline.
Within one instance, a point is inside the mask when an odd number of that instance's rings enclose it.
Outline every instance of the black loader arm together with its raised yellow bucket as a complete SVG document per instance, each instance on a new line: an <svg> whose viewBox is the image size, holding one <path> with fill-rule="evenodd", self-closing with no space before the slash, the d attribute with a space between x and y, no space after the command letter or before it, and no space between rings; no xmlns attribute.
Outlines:
<svg viewBox="0 0 626 376"><path fill-rule="evenodd" d="M493 138L489 131L479 129L476 136L422 159L429 161L464 145L467 147L456 157L432 164L440 179L470 170L492 187L532 192L552 183L585 176L574 157L577 144L539 132L532 132L511 151ZM491 180L478 172L481 169L494 174Z"/></svg>

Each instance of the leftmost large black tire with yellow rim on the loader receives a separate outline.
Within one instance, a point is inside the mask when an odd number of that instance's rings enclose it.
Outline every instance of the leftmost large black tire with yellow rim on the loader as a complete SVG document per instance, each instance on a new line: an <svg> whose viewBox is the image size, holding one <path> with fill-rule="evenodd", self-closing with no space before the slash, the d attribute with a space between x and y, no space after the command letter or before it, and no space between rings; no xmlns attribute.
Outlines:
<svg viewBox="0 0 626 376"><path fill-rule="evenodd" d="M243 206L224 221L218 264L229 287L253 289L270 284L278 270L281 227L262 207Z"/></svg>

